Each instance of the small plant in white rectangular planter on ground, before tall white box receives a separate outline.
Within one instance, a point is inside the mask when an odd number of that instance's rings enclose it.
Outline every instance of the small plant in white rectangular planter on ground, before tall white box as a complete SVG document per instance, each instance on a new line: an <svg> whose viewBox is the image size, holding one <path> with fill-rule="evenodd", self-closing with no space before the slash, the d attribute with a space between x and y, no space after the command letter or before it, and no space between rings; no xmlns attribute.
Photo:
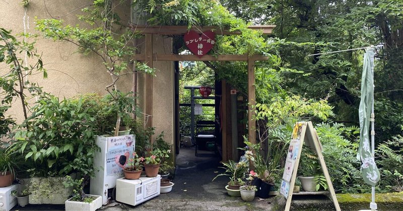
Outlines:
<svg viewBox="0 0 403 211"><path fill-rule="evenodd" d="M73 180L66 176L65 187L73 186L73 196L64 202L65 210L88 210L94 211L102 206L102 197L100 195L91 195L84 193L84 178Z"/></svg>

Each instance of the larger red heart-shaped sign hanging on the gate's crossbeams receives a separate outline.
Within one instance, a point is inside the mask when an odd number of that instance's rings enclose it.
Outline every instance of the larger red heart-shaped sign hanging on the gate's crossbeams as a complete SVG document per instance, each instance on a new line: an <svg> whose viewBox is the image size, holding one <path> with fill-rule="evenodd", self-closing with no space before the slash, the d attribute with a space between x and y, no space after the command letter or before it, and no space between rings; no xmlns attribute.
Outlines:
<svg viewBox="0 0 403 211"><path fill-rule="evenodd" d="M196 56L206 55L216 43L215 33L212 31L205 31L201 35L197 32L190 30L183 37L187 48Z"/></svg>

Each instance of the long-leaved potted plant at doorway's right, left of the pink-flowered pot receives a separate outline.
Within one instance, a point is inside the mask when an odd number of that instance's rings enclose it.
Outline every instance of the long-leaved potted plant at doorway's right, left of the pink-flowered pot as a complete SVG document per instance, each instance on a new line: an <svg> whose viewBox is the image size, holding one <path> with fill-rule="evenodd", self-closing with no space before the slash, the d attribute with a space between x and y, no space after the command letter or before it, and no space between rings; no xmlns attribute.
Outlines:
<svg viewBox="0 0 403 211"><path fill-rule="evenodd" d="M219 168L225 169L225 172L214 177L213 181L219 176L229 176L230 181L227 188L230 190L239 190L239 187L245 184L242 177L247 172L248 166L245 162L235 163L233 160L229 160L228 163L223 163L223 165L224 167Z"/></svg>

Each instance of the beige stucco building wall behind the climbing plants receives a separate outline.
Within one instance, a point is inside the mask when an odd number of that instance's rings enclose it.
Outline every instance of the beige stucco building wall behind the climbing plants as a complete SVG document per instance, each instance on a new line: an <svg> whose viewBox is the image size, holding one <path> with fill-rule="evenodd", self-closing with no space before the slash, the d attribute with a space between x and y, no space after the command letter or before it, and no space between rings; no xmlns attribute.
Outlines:
<svg viewBox="0 0 403 211"><path fill-rule="evenodd" d="M21 6L19 0L0 1L0 27L13 30L13 35L26 32L39 34L35 30L35 17L61 18L65 24L76 25L76 15L82 14L82 7L91 4L86 1L65 1L65 0L31 0L27 9ZM126 1L117 8L123 23L130 19L130 1ZM78 9L78 10L77 10ZM25 24L24 24L25 19ZM30 39L33 41L33 39ZM139 42L141 43L141 42ZM172 39L155 37L154 52L171 52ZM72 43L53 42L52 40L39 36L35 47L42 53L44 67L48 70L48 79L42 79L41 75L31 76L31 82L37 81L46 92L59 97L72 97L82 93L95 92L106 94L105 87L111 83L110 76L106 73L105 67L100 58L96 55L83 55L78 52L77 46ZM28 62L29 63L29 62ZM172 62L155 62L154 67L159 69L157 77L153 81L154 116L153 125L156 127L156 134L165 132L165 140L173 143L173 65ZM0 64L0 75L7 73L4 63ZM142 105L144 90L142 89L143 77L139 76L139 94ZM130 91L132 88L132 76L121 79L118 83L119 89ZM31 101L34 99L31 99ZM23 118L19 102L13 104L10 114L21 121Z"/></svg>

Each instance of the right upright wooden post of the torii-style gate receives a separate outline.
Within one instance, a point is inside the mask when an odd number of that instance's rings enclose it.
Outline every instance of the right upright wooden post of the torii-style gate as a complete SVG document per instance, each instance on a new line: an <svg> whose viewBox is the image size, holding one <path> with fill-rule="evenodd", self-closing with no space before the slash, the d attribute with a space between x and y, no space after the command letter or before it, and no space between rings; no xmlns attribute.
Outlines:
<svg viewBox="0 0 403 211"><path fill-rule="evenodd" d="M255 114L255 60L252 57L248 59L248 137L249 142L256 143L256 120Z"/></svg>

